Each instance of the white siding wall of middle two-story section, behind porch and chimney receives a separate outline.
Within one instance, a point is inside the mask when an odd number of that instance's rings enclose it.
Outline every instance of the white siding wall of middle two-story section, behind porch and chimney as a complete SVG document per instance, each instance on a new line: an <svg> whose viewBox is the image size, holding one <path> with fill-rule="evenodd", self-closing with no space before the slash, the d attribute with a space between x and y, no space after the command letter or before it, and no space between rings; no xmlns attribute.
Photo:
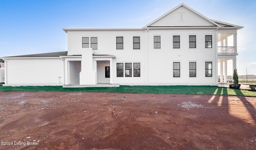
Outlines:
<svg viewBox="0 0 256 150"><path fill-rule="evenodd" d="M138 36L140 49L133 49L133 37ZM68 55L81 55L82 37L98 37L98 49L94 49L94 55L116 56L110 68L112 84L146 83L145 30L68 31ZM124 37L124 49L116 49L116 37ZM116 77L116 63L140 63L140 77Z"/></svg>

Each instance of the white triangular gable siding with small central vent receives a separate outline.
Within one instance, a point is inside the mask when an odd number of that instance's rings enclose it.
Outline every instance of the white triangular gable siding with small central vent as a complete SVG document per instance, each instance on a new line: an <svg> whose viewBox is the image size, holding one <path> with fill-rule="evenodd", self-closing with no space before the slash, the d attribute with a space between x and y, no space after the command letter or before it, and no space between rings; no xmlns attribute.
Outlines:
<svg viewBox="0 0 256 150"><path fill-rule="evenodd" d="M183 21L180 20L180 14L183 15ZM180 7L170 14L167 14L157 22L150 25L153 26L216 26L213 23L195 14L185 7Z"/></svg>

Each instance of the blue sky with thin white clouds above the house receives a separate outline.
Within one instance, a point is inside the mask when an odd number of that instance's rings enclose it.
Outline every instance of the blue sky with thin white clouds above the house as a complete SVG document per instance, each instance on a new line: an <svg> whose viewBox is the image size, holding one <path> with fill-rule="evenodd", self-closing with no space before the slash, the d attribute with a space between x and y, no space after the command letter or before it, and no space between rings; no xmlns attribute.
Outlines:
<svg viewBox="0 0 256 150"><path fill-rule="evenodd" d="M238 75L246 66L256 75L255 0L0 0L0 57L67 51L62 28L142 28L181 3L244 26L238 30Z"/></svg>

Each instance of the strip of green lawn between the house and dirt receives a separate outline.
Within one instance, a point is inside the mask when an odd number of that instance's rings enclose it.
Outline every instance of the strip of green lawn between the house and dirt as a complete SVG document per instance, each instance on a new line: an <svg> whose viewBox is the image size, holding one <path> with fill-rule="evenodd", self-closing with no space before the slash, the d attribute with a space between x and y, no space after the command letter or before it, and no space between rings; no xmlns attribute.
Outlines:
<svg viewBox="0 0 256 150"><path fill-rule="evenodd" d="M200 94L200 95L236 95L256 97L256 91L230 89L217 86L120 86L62 88L62 86L22 86L2 87L0 91L59 91L59 92L107 92L107 93L149 93L149 94Z"/></svg>

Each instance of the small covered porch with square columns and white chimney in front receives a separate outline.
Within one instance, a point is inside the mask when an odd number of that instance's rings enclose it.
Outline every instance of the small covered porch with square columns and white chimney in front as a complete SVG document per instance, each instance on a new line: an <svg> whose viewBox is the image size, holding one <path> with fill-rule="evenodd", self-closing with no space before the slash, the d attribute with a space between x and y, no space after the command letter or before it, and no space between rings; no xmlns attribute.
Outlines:
<svg viewBox="0 0 256 150"><path fill-rule="evenodd" d="M92 49L83 49L82 55L60 56L64 61L63 87L117 87L112 84L114 55L94 55Z"/></svg>

